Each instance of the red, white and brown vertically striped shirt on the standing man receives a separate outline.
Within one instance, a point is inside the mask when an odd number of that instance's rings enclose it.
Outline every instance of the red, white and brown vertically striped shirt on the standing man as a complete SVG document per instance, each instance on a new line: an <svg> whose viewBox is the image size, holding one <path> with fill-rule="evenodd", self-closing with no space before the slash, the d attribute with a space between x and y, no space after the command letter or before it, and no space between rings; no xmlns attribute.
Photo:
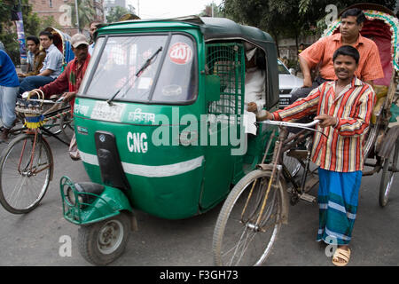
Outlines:
<svg viewBox="0 0 399 284"><path fill-rule="evenodd" d="M325 82L291 106L273 113L276 120L292 121L308 114L328 114L338 118L335 126L317 125L313 138L312 161L324 170L351 172L363 170L364 134L369 128L375 93L372 87L354 77L343 91L335 94L335 83Z"/></svg>

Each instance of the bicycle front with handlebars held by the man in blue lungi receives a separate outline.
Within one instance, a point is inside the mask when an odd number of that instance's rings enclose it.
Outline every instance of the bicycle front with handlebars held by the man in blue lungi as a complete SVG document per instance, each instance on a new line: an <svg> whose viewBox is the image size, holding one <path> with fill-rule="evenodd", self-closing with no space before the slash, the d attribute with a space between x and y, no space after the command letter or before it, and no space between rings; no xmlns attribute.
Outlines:
<svg viewBox="0 0 399 284"><path fill-rule="evenodd" d="M287 169L283 156L289 151L296 151L295 148L315 131L309 127L317 122L262 122L279 127L272 159L268 164L263 163L269 153L272 140L270 138L258 170L246 174L233 187L224 202L213 237L216 265L261 265L270 255L281 224L287 221L288 190L291 193L292 204L300 199L312 202L316 200L308 194L309 190L318 183L315 171L309 169L309 151L292 153L292 157L304 167L300 181ZM287 137L288 126L303 130ZM275 130L272 132L273 138L274 135ZM303 156L305 153L306 157ZM292 186L288 188L288 184Z"/></svg>

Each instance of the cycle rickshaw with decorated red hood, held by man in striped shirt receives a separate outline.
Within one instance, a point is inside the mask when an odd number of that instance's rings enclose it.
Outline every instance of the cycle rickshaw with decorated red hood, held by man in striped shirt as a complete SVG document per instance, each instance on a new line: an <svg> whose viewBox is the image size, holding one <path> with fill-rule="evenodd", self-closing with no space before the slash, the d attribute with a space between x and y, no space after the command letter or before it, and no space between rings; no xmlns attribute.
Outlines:
<svg viewBox="0 0 399 284"><path fill-rule="evenodd" d="M356 4L364 10L367 20L362 28L362 36L372 38L379 47L385 78L375 82L377 103L372 114L372 123L367 137L364 138L364 159L366 166L373 169L364 175L372 175L382 170L379 204L387 204L387 196L398 171L399 125L398 116L398 20L393 12L376 4ZM324 36L338 32L340 20L325 30ZM308 181L315 177L309 170L309 148L298 150L301 143L313 136L308 125L293 122L264 122L278 125L278 141L270 163L261 163L256 170L248 173L231 190L223 204L215 225L213 252L217 265L261 265L270 255L277 240L281 224L286 221L287 191L291 194L291 203L298 197L307 196L312 185ZM298 127L299 133L288 135L287 127ZM306 130L308 128L308 130ZM294 152L294 154L291 154ZM286 159L286 156L293 159ZM296 161L297 166L288 165ZM303 168L301 177L295 178ZM309 175L309 178L307 177ZM314 201L307 197L308 201Z"/></svg>

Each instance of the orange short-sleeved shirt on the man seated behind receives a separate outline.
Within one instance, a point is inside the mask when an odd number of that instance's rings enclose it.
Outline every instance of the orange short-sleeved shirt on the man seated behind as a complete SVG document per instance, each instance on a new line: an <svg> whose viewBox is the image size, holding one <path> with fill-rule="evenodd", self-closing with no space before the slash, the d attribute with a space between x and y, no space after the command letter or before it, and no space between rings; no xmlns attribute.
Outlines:
<svg viewBox="0 0 399 284"><path fill-rule="evenodd" d="M332 55L340 46L342 46L340 34L325 36L302 51L300 56L306 59L311 68L316 67L320 62L320 75L325 80L337 80L332 64ZM384 78L377 44L359 34L356 43L352 46L360 54L359 65L355 72L356 77L363 81Z"/></svg>

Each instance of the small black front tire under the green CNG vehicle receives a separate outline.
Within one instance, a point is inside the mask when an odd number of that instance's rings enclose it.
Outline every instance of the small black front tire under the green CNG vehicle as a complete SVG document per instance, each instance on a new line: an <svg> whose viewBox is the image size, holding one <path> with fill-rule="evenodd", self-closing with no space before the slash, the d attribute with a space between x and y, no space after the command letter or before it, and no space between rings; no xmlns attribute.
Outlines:
<svg viewBox="0 0 399 284"><path fill-rule="evenodd" d="M123 254L129 241L131 222L126 213L79 228L79 251L90 264L106 265Z"/></svg>

